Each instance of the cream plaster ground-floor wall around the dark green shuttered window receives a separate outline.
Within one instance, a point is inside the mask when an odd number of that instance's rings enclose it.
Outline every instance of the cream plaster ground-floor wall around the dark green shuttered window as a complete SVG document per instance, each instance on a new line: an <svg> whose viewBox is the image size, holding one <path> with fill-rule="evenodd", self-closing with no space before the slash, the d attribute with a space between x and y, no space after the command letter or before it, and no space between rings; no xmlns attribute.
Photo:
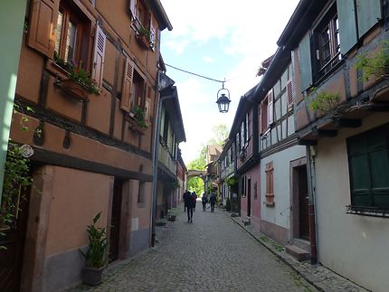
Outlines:
<svg viewBox="0 0 389 292"><path fill-rule="evenodd" d="M375 114L362 127L341 129L337 137L319 140L316 157L318 259L374 291L387 291L389 221L346 214L351 203L346 137L387 122L387 114Z"/></svg>

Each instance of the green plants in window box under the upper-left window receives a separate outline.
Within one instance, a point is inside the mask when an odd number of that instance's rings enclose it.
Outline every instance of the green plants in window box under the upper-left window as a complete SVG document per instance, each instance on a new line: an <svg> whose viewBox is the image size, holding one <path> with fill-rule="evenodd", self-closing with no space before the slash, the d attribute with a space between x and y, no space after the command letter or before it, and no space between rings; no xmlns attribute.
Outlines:
<svg viewBox="0 0 389 292"><path fill-rule="evenodd" d="M79 64L65 61L60 58L58 52L54 52L54 63L67 71L69 79L76 81L89 93L100 94L100 88L96 80L90 78L90 74L82 68L82 61Z"/></svg>

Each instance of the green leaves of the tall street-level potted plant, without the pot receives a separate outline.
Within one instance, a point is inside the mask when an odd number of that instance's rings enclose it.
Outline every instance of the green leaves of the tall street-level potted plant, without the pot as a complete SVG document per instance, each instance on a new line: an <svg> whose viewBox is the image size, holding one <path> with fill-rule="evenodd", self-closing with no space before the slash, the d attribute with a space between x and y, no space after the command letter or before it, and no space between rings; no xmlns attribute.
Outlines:
<svg viewBox="0 0 389 292"><path fill-rule="evenodd" d="M93 223L88 225L87 231L90 243L87 252L80 250L86 260L86 266L90 268L101 268L107 263L107 229L96 226L100 215L101 212L93 218Z"/></svg>

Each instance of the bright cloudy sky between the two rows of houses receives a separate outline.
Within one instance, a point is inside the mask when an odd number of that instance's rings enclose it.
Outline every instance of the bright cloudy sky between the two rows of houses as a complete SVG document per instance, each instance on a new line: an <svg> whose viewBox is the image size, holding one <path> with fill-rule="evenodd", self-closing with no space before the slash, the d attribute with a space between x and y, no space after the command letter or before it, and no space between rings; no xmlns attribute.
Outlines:
<svg viewBox="0 0 389 292"><path fill-rule="evenodd" d="M213 137L212 128L231 127L240 97L259 82L261 61L272 55L299 0L161 0L173 31L163 31L166 64L215 80L227 80L230 111L219 113L216 94L222 84L167 68L176 81L186 142L185 164L198 157Z"/></svg>

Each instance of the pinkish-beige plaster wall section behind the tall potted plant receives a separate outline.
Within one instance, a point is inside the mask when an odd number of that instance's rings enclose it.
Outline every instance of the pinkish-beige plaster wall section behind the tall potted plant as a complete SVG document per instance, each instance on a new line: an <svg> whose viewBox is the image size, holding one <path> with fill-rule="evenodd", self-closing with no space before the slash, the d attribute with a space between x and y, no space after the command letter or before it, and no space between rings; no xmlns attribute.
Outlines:
<svg viewBox="0 0 389 292"><path fill-rule="evenodd" d="M88 244L87 226L101 212L100 226L107 226L113 177L52 166L50 220L45 256ZM44 183L43 183L44 184Z"/></svg>

